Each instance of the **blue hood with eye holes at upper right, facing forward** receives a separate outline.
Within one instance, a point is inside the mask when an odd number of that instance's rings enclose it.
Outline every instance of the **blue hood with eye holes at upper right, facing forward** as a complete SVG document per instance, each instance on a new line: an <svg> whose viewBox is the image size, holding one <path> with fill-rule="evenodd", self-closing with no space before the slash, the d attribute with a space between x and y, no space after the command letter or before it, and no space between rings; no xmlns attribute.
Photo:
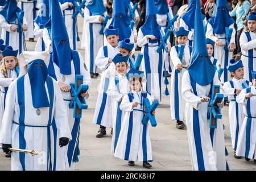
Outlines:
<svg viewBox="0 0 256 182"><path fill-rule="evenodd" d="M228 4L226 1L217 0L215 16L208 20L212 25L214 34L224 34L225 27L234 23L234 19L229 15Z"/></svg>

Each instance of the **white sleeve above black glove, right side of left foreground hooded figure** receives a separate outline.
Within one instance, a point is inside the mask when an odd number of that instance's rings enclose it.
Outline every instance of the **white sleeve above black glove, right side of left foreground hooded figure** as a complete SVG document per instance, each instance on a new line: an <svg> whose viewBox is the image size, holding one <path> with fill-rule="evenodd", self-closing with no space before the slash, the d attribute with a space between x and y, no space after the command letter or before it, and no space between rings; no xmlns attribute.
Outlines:
<svg viewBox="0 0 256 182"><path fill-rule="evenodd" d="M55 108L54 108L54 118L59 133L59 137L66 137L72 140L71 130L68 124L67 111L65 109L65 104L63 97L55 80L53 81L54 93L55 93Z"/></svg>

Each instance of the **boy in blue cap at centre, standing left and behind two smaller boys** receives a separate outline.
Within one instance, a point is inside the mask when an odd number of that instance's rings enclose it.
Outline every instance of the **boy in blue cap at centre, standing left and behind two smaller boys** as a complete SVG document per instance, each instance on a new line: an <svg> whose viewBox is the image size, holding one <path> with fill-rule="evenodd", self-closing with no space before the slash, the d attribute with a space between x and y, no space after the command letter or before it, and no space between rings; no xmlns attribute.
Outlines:
<svg viewBox="0 0 256 182"><path fill-rule="evenodd" d="M95 60L96 66L102 70L96 109L93 115L93 123L100 125L100 129L96 135L97 138L102 138L106 135L106 127L112 128L110 97L106 92L109 88L110 78L117 75L112 59L119 52L118 28L109 26L109 28L104 31L104 34L106 39L108 39L109 45L100 48Z"/></svg>

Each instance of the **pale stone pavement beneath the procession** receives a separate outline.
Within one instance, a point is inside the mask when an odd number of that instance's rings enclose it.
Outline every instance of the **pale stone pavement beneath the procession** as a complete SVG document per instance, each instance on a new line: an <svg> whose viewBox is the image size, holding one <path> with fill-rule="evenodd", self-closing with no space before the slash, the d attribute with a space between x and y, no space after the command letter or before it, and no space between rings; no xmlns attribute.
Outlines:
<svg viewBox="0 0 256 182"><path fill-rule="evenodd" d="M79 31L81 38L82 19L79 18ZM27 42L29 50L34 49L35 42ZM80 46L79 46L80 48ZM84 51L79 49L82 56ZM170 78L169 78L170 82ZM97 88L100 77L92 79L90 98L87 101L88 109L84 110L80 128L80 156L76 163L76 170L144 170L142 162L135 163L135 167L129 167L126 161L114 158L111 154L110 129L104 138L96 138L99 126L92 123L93 114L97 100ZM170 85L168 85L170 90ZM163 89L164 90L164 85ZM170 96L163 96L163 102L156 109L156 120L158 125L150 127L150 138L152 143L152 170L191 170L191 160L188 148L186 130L176 129L175 121L171 121ZM225 143L229 155L226 157L230 170L256 170L256 164L245 159L235 159L229 132L228 107L222 109L222 117L225 125ZM10 170L11 160L0 154L0 170Z"/></svg>

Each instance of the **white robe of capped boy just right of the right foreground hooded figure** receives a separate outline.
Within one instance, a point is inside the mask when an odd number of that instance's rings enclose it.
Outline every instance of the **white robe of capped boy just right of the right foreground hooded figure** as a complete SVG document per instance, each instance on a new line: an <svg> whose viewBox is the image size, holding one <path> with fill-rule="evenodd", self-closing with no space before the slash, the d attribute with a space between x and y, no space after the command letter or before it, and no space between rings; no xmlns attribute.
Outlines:
<svg viewBox="0 0 256 182"><path fill-rule="evenodd" d="M240 133L242 122L243 122L243 119L245 118L245 114L243 114L242 104L238 104L236 102L236 97L238 97L239 94L238 95L235 94L234 89L242 90L243 89L242 83L245 82L245 79L241 78L240 80L237 80L236 78L233 77L232 81L234 84L234 88L232 88L232 86L230 85L230 82L227 81L224 83L223 89L224 89L225 96L229 96L230 98L230 103L229 103L230 135L232 140L232 147L234 150L236 150L238 135ZM238 119L237 119L237 115L238 115Z"/></svg>

